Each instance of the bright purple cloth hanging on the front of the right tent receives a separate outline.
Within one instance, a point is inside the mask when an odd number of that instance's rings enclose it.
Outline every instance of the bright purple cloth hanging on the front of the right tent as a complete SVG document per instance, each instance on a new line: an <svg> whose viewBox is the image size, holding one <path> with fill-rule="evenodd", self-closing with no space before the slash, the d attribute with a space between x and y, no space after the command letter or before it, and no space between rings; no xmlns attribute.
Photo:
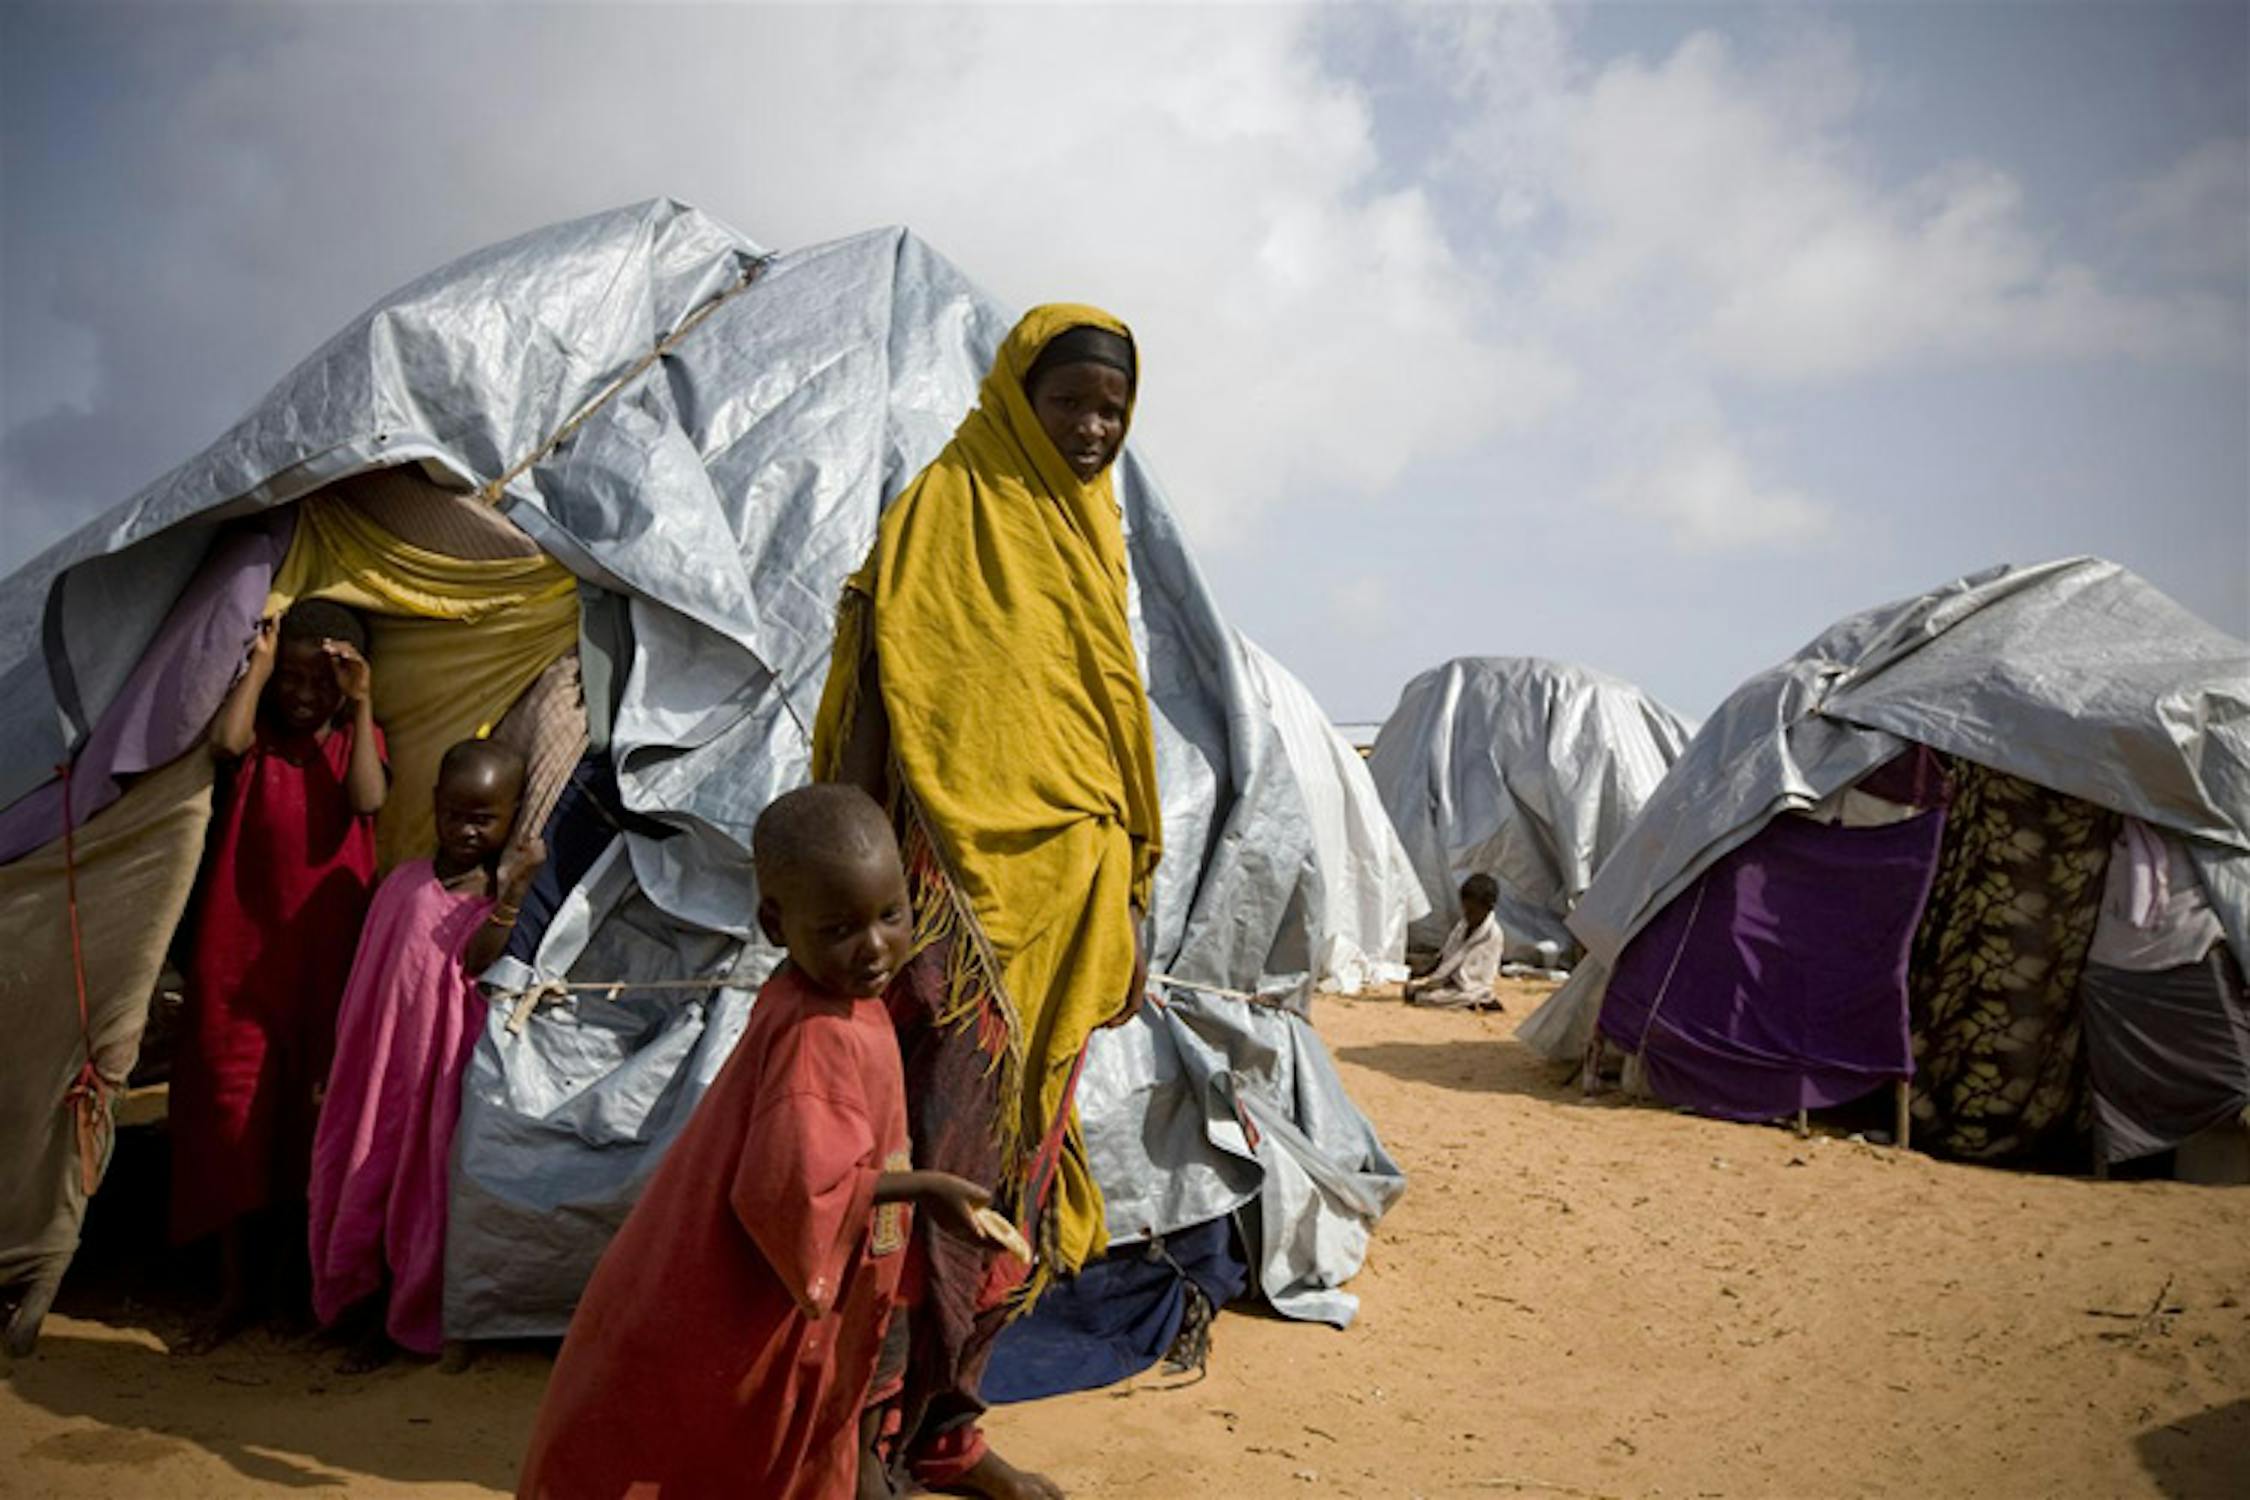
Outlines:
<svg viewBox="0 0 2250 1500"><path fill-rule="evenodd" d="M1944 819L1773 819L1627 945L1602 1034L1642 1055L1656 1097L1728 1120L1910 1077L1906 951Z"/></svg>

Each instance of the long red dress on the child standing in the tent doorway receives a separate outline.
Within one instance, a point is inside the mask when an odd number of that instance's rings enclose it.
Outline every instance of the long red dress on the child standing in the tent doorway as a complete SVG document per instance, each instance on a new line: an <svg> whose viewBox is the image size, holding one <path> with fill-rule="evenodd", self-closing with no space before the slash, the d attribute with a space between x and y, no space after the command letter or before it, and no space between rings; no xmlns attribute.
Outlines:
<svg viewBox="0 0 2250 1500"><path fill-rule="evenodd" d="M376 884L376 821L344 787L351 740L351 724L315 740L261 722L218 812L171 1064L178 1244L304 1201L313 1088Z"/></svg>

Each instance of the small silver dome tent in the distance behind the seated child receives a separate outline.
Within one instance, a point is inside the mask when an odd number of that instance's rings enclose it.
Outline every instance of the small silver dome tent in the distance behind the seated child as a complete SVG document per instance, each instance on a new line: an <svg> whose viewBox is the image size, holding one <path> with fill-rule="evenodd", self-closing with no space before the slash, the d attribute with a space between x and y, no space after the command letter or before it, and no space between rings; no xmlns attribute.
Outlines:
<svg viewBox="0 0 2250 1500"><path fill-rule="evenodd" d="M1573 951L1564 918L1690 733L1640 688L1564 661L1460 657L1408 681L1368 771L1429 893L1415 947L1444 940L1460 882L1483 873L1510 947Z"/></svg>

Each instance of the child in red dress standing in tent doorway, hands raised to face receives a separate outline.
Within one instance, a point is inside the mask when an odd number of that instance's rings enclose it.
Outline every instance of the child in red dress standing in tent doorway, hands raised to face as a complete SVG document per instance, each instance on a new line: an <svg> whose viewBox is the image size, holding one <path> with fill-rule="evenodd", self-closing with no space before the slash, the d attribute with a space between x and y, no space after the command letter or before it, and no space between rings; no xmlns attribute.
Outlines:
<svg viewBox="0 0 2250 1500"><path fill-rule="evenodd" d="M367 625L306 600L259 621L212 720L212 756L232 767L171 1075L171 1235L220 1235L220 1302L187 1340L191 1354L252 1320L252 1286L279 1286L295 1304L281 1311L304 1318L313 1097L328 1077L389 785L371 695Z"/></svg>

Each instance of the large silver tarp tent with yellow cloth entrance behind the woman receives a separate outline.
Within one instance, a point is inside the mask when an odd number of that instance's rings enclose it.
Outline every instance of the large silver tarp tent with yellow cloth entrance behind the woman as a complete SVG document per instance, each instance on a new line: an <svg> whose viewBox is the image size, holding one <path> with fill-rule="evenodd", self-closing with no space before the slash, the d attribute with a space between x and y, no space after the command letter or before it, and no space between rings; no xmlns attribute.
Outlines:
<svg viewBox="0 0 2250 1500"><path fill-rule="evenodd" d="M677 202L596 214L400 288L209 450L0 582L0 1016L22 1043L0 1061L0 1286L34 1289L18 1343L76 1246L104 1095L187 902L209 819L200 731L288 591L342 591L392 634L378 693L412 697L389 704L394 765L497 720L549 767L556 857L508 974L598 987L488 1019L446 1322L565 1327L776 960L749 922L749 828L806 776L842 578L1006 328L902 229L770 254ZM1346 875L1321 864L1282 729L1134 450L1118 499L1166 814L1154 958L1300 996L1328 949L1323 882ZM513 591L493 591L502 576ZM482 605L454 596L486 585ZM416 641L468 652L446 657L461 670L382 670ZM425 798L398 785L394 857ZM83 1025L65 864L88 924ZM1114 1203L1242 1210L1274 1304L1348 1318L1334 1286L1404 1178L1312 1028L1184 994L1100 1052L1089 1077L1134 1079L1082 1095L1089 1136L1132 1142L1096 1156ZM1314 1178L1364 1187L1305 1192Z"/></svg>

